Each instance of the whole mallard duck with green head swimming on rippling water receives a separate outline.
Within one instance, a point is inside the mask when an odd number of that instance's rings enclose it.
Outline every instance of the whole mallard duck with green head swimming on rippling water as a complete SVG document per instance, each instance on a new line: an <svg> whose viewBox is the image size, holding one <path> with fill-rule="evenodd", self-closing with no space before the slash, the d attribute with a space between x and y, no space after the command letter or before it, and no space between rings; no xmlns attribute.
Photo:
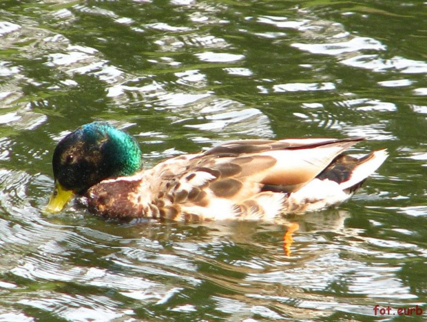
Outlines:
<svg viewBox="0 0 427 322"><path fill-rule="evenodd" d="M96 121L64 137L52 165L49 212L77 195L107 218L273 220L347 200L388 157L343 154L361 137L228 141L143 170L138 142Z"/></svg>

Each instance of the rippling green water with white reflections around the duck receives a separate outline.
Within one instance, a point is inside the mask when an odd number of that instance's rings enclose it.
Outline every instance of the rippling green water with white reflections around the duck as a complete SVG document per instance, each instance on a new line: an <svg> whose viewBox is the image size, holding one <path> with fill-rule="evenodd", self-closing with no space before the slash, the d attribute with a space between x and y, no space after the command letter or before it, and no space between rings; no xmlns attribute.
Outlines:
<svg viewBox="0 0 427 322"><path fill-rule="evenodd" d="M1 1L0 321L425 321L426 9ZM94 120L147 166L238 138L362 135L356 154L390 158L348 203L282 223L45 216L54 146Z"/></svg>

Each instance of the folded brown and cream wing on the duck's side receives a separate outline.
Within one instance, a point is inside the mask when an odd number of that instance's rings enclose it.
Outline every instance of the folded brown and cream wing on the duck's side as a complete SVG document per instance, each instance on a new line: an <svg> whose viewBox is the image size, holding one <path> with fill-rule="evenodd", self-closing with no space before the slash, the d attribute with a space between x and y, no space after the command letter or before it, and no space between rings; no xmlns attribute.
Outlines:
<svg viewBox="0 0 427 322"><path fill-rule="evenodd" d="M206 206L212 197L239 200L260 191L292 192L362 138L229 142L189 161L169 187L171 203ZM209 188L209 189L205 189Z"/></svg>

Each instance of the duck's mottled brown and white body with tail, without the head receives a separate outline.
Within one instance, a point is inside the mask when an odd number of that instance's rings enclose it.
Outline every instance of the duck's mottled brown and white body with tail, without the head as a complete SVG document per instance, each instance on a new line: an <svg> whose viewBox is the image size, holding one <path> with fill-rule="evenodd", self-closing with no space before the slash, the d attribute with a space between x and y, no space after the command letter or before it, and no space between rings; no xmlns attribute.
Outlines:
<svg viewBox="0 0 427 322"><path fill-rule="evenodd" d="M86 197L90 210L104 217L271 220L280 213L304 211L309 203L317 209L351 196L351 188L386 158L378 151L362 159L341 156L361 140L231 141L169 159L132 177L102 181ZM358 168L364 170L356 178ZM344 188L347 181L352 185ZM320 183L337 190L331 191L333 202L322 205L323 194L320 198L310 190L311 185L322 190ZM309 195L298 196L304 190Z"/></svg>

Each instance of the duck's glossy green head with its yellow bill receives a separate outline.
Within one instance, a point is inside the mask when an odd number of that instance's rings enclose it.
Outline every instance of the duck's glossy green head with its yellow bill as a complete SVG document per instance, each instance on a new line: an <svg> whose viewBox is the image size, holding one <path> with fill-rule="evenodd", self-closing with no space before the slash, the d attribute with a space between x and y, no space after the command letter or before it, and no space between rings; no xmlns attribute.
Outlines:
<svg viewBox="0 0 427 322"><path fill-rule="evenodd" d="M138 142L105 122L85 124L56 145L52 166L55 188L47 210L62 210L73 194L104 179L129 176L142 165Z"/></svg>

